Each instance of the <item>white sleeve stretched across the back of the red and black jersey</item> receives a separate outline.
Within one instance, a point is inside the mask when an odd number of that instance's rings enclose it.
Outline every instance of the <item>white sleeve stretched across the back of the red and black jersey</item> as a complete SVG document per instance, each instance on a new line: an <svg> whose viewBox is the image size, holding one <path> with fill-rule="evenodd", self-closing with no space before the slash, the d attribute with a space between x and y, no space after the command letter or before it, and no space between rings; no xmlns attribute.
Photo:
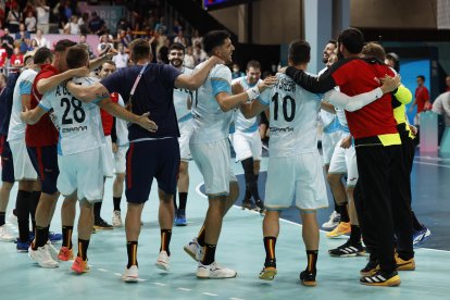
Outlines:
<svg viewBox="0 0 450 300"><path fill-rule="evenodd" d="M332 103L336 108L346 110L348 112L354 112L382 97L383 91L380 88L376 88L372 91L360 93L353 97L332 89L324 95L324 100Z"/></svg>

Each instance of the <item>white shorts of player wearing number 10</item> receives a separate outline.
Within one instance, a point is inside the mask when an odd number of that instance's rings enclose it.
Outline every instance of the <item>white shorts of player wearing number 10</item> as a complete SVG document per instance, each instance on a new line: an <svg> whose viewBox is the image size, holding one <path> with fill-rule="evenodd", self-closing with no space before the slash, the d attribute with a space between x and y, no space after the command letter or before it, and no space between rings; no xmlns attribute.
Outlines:
<svg viewBox="0 0 450 300"><path fill-rule="evenodd" d="M318 152L268 158L264 207L288 209L292 200L298 209L305 211L328 207Z"/></svg>

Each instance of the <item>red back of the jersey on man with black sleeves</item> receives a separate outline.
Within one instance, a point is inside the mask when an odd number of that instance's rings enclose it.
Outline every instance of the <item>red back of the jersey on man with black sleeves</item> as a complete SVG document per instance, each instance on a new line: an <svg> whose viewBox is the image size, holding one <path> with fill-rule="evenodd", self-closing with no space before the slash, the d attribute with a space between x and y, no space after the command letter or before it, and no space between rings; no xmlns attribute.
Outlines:
<svg viewBox="0 0 450 300"><path fill-rule="evenodd" d="M337 63L339 64L339 63ZM382 86L379 79L386 75L395 76L384 64L367 63L363 60L351 60L332 73L336 86L348 96L371 91ZM347 112L350 133L355 139L397 134L397 122L393 117L392 97L387 93L378 100L355 112Z"/></svg>

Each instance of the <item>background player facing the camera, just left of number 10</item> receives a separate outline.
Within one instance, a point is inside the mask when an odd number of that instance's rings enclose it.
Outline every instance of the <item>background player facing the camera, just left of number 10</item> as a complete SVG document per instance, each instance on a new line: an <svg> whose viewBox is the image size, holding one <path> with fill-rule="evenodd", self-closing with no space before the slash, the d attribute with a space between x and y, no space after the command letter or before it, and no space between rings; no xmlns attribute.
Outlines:
<svg viewBox="0 0 450 300"><path fill-rule="evenodd" d="M245 90L261 84L261 64L258 61L247 63L246 76L238 77L233 84L240 84ZM254 99L252 99L254 100ZM233 135L233 147L236 152L236 161L240 161L246 178L246 193L242 208L262 212L264 203L258 191L258 176L262 158L262 142L259 133L257 117L246 118L240 110L235 113L235 133ZM253 201L251 200L253 198Z"/></svg>

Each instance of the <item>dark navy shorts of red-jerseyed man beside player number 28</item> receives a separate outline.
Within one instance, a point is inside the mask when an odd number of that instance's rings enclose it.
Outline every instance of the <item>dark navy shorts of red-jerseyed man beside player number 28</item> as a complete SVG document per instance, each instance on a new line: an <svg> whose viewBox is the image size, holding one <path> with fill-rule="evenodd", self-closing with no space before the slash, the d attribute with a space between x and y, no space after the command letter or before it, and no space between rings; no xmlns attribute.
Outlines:
<svg viewBox="0 0 450 300"><path fill-rule="evenodd" d="M58 147L27 147L29 159L42 184L42 192L52 195L58 191L57 180L60 175L58 167Z"/></svg>

